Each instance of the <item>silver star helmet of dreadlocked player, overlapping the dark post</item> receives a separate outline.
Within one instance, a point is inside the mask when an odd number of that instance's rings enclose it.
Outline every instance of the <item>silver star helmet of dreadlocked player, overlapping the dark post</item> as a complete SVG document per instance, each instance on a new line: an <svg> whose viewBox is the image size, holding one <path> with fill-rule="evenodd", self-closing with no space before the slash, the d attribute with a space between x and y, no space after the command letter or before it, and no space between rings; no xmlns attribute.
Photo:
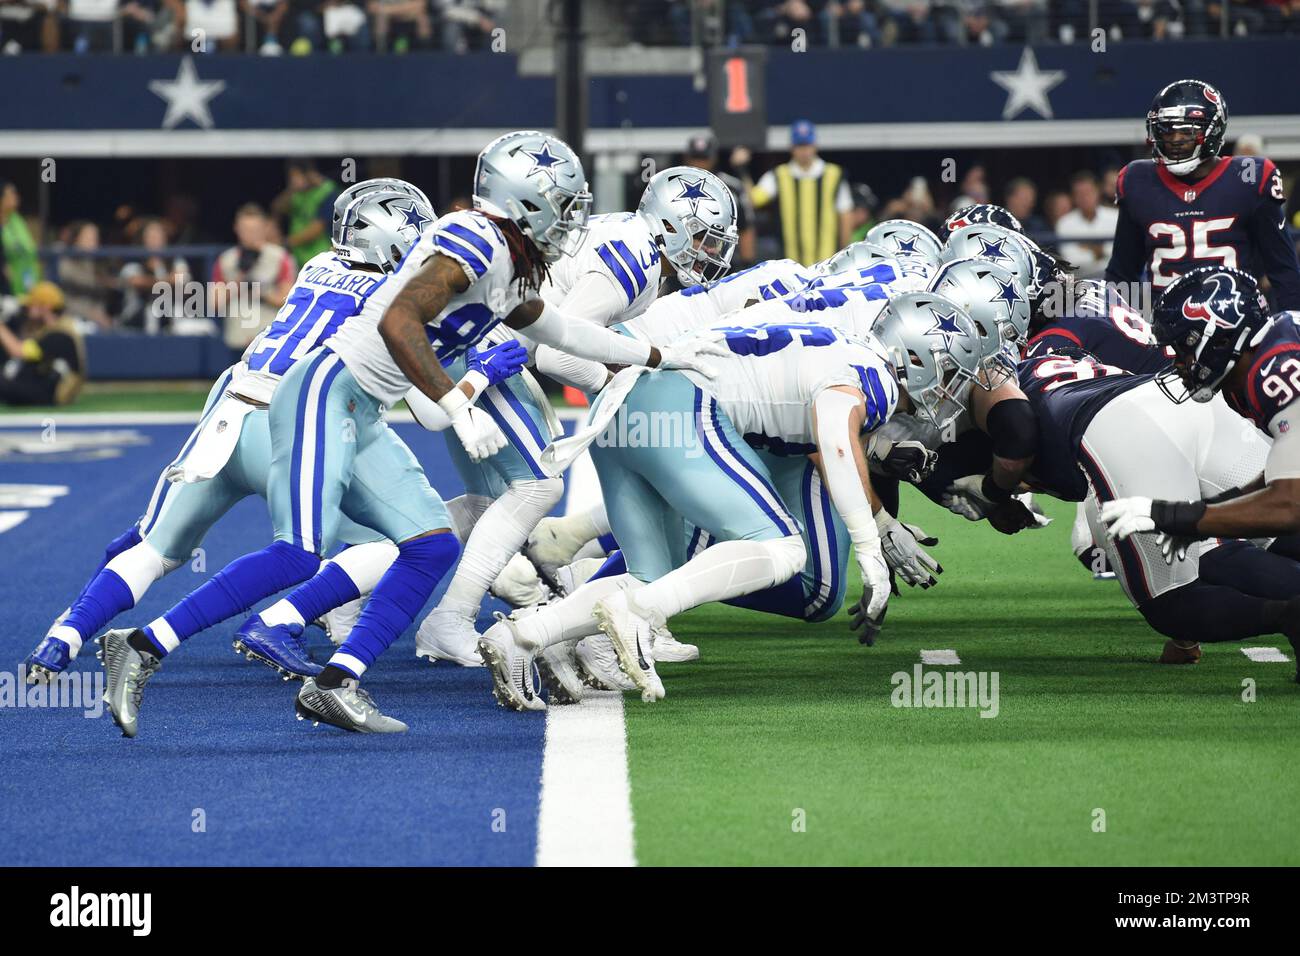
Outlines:
<svg viewBox="0 0 1300 956"><path fill-rule="evenodd" d="M568 143L520 130L497 137L478 153L474 208L514 222L554 263L582 246L592 194Z"/></svg>

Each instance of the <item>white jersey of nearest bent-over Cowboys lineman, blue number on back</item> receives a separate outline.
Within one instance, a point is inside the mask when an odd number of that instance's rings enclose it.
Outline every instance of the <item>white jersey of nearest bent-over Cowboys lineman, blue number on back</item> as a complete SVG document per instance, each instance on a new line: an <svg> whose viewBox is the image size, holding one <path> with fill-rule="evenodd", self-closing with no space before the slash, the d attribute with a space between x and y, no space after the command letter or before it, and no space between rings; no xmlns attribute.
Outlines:
<svg viewBox="0 0 1300 956"><path fill-rule="evenodd" d="M898 405L898 381L874 338L812 323L723 330L731 354L710 359L716 377L682 375L718 399L750 445L775 454L814 451L812 402L835 385L867 397L866 431L888 421Z"/></svg>

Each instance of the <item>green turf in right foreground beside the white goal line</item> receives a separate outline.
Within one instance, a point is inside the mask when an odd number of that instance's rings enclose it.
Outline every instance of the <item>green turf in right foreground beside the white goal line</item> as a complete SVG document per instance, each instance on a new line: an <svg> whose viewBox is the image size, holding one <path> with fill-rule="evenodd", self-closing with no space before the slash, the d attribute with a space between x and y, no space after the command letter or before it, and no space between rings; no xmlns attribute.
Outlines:
<svg viewBox="0 0 1300 956"><path fill-rule="evenodd" d="M875 648L844 618L677 618L701 659L662 666L666 700L625 701L638 861L1300 862L1294 665L1239 644L1154 663L1162 641L1118 584L1070 554L1074 507L1044 503L1052 527L1004 537L905 498L945 574L893 600ZM1291 657L1284 637L1252 644ZM892 706L923 648L962 661L926 670L997 671L998 715Z"/></svg>

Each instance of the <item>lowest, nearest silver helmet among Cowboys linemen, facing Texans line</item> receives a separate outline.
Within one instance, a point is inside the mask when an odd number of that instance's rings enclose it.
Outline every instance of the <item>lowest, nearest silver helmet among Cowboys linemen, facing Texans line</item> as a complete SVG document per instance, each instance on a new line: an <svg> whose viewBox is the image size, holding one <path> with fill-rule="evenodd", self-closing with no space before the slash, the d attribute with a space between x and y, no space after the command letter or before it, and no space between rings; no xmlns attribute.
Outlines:
<svg viewBox="0 0 1300 956"><path fill-rule="evenodd" d="M920 419L942 431L962 414L983 352L961 306L936 293L904 293L884 307L871 333Z"/></svg>

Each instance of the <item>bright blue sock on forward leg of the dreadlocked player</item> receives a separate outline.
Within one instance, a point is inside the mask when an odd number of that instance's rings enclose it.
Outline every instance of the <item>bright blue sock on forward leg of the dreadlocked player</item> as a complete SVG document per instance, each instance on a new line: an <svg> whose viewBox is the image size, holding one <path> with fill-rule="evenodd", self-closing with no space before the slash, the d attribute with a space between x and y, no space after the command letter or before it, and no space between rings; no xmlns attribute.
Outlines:
<svg viewBox="0 0 1300 956"><path fill-rule="evenodd" d="M355 657L367 667L374 663L411 626L458 557L460 542L450 532L398 545L396 561L374 585L361 617L337 653Z"/></svg>

